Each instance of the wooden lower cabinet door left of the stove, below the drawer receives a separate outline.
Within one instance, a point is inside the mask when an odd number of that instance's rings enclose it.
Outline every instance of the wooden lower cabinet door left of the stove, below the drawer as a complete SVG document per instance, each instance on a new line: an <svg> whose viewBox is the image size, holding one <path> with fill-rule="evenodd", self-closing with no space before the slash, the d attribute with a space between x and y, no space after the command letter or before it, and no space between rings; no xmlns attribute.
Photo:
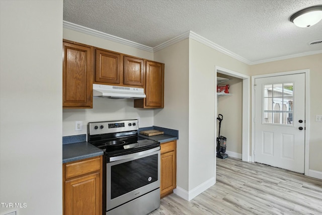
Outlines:
<svg viewBox="0 0 322 215"><path fill-rule="evenodd" d="M65 182L65 215L102 214L100 173Z"/></svg>

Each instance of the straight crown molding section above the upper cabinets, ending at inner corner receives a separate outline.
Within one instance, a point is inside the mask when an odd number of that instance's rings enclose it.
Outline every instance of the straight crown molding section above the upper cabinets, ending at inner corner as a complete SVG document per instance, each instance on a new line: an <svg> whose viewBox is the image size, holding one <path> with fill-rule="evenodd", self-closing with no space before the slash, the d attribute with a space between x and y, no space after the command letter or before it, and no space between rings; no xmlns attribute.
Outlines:
<svg viewBox="0 0 322 215"><path fill-rule="evenodd" d="M84 27L84 26L81 26L81 25L74 24L74 23L63 21L62 22L62 27L66 28L66 29L78 31L78 32L81 32L81 33L84 33L84 34L89 34L91 36L95 36L95 37L103 38L103 39L106 39L106 40L110 40L110 41L113 41L113 42L121 43L123 45L128 45L128 46L131 46L131 47L134 47L134 48L142 49L144 51L153 52L153 48L151 48L149 46L142 45L142 44L139 44L139 43L136 43L136 42L133 42L133 41L130 41L130 40L126 40L126 39L123 39L123 38L120 38L120 37L116 37L116 36L113 36L111 34L106 34L106 33L103 33L101 31L97 31L97 30L94 30L94 29L91 29L91 28L87 28L87 27Z"/></svg>

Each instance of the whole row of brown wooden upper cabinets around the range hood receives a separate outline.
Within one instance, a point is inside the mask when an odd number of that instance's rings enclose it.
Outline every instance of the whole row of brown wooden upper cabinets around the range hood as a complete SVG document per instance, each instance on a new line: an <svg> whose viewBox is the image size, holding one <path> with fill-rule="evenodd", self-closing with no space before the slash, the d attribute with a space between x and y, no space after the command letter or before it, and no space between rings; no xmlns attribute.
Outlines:
<svg viewBox="0 0 322 215"><path fill-rule="evenodd" d="M134 107L164 108L164 63L63 40L62 70L63 108L93 108L93 83L144 88Z"/></svg>

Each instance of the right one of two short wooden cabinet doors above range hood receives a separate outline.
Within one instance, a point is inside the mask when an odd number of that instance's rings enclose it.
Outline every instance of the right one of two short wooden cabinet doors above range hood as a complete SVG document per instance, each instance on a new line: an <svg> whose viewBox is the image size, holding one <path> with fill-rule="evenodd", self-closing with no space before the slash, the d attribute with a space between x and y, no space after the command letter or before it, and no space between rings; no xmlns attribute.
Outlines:
<svg viewBox="0 0 322 215"><path fill-rule="evenodd" d="M144 60L135 57L124 56L123 84L143 87Z"/></svg>

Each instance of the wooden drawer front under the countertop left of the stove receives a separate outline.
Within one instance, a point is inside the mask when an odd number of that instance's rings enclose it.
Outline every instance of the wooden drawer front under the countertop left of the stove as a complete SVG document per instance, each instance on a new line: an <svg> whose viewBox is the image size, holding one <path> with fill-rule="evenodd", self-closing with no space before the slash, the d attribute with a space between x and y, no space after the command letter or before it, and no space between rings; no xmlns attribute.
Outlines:
<svg viewBox="0 0 322 215"><path fill-rule="evenodd" d="M95 158L76 163L66 164L65 178L72 178L79 175L98 172L101 169L101 159Z"/></svg>

